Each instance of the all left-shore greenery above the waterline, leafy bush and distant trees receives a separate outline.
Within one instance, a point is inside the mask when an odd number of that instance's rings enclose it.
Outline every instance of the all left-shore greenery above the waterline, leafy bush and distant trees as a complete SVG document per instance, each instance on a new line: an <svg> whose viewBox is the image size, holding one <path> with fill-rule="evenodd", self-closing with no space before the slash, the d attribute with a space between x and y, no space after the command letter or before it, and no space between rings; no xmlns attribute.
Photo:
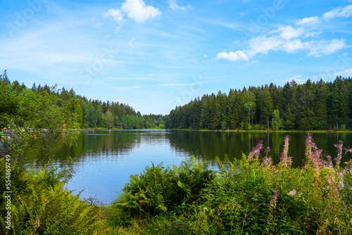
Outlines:
<svg viewBox="0 0 352 235"><path fill-rule="evenodd" d="M26 123L24 123L24 120ZM54 120L56 123L54 123ZM32 89L0 75L0 130L23 128L49 129L49 126L78 128L143 129L164 125L163 115L141 115L130 106L118 102L87 100L65 88L35 83Z"/></svg>

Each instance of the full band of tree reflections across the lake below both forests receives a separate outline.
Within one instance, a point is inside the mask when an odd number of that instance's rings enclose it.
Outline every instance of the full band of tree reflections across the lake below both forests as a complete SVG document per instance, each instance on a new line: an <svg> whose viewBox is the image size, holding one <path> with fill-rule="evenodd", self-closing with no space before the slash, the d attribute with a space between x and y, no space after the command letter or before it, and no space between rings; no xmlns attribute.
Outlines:
<svg viewBox="0 0 352 235"><path fill-rule="evenodd" d="M293 157L295 167L302 165L305 153L306 133L292 132L289 141L289 155ZM95 131L80 132L77 144L69 147L57 143L50 149L39 148L30 153L30 158L46 159L49 156L58 162L65 160L70 155L77 161L102 160L105 158L121 158L129 155L135 148L145 145L170 144L176 153L196 155L197 158L214 160L215 156L220 159L227 154L230 160L241 158L242 152L246 155L256 146L258 141L263 140L263 146L270 146L269 155L275 163L279 158L284 144L284 136L287 133L249 133L249 132L189 132L189 131ZM323 149L325 155L336 156L334 144L341 139L344 146L352 146L352 134L314 133L313 138L318 148ZM165 151L165 150L161 150ZM165 153L165 157L169 153ZM148 153L146 153L148 155ZM265 155L262 152L262 155ZM84 156L84 158L80 158ZM348 156L349 158L349 156Z"/></svg>

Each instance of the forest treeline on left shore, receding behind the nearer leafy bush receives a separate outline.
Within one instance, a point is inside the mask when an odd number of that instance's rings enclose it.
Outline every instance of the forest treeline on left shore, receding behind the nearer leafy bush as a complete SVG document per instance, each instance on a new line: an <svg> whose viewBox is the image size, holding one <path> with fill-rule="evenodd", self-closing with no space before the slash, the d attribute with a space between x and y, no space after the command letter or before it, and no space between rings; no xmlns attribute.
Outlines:
<svg viewBox="0 0 352 235"><path fill-rule="evenodd" d="M144 129L144 128L164 128L165 116L163 115L142 115L131 107L123 103L114 101L101 101L87 99L84 96L75 94L73 89L68 91L64 87L57 89L48 85L37 86L35 83L32 88L28 88L25 84L20 84L18 81L11 81L6 75L0 76L0 80L6 84L5 89L9 93L22 96L28 92L41 95L47 94L55 97L55 104L59 107L64 103L70 102L69 110L71 115L75 116L75 127L77 128L118 128L118 129ZM0 113L11 113L11 110L6 110L8 107L1 107ZM68 127L74 128L74 127Z"/></svg>

